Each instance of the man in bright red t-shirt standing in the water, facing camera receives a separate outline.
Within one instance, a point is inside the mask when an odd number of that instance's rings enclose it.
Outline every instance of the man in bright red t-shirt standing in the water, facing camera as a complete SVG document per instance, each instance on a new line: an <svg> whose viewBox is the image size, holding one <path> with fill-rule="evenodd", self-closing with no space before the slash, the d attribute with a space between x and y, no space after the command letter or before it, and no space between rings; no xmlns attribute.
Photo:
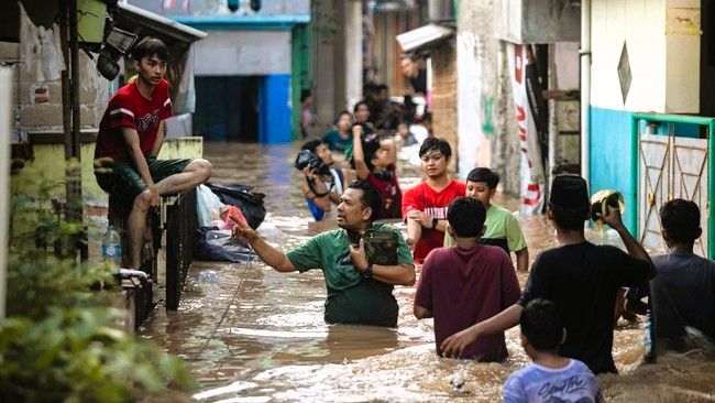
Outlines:
<svg viewBox="0 0 715 403"><path fill-rule="evenodd" d="M427 253L444 243L447 206L464 196L463 182L447 175L452 148L443 139L427 138L419 148L427 179L403 195L403 218L407 221L407 244L415 250L415 262L421 263Z"/></svg>

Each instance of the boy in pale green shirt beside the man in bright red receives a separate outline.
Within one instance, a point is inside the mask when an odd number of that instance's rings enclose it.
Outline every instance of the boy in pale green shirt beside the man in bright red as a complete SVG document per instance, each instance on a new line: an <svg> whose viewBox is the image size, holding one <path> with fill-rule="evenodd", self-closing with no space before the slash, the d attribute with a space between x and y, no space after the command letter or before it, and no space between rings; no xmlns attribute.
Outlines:
<svg viewBox="0 0 715 403"><path fill-rule="evenodd" d="M486 167L476 167L466 176L466 197L475 198L486 207L486 221L484 221L484 236L481 243L501 247L509 254L516 254L516 269L520 272L529 271L529 249L521 232L519 221L512 211L492 203L499 184L499 175ZM444 233L444 246L454 244L452 237Z"/></svg>

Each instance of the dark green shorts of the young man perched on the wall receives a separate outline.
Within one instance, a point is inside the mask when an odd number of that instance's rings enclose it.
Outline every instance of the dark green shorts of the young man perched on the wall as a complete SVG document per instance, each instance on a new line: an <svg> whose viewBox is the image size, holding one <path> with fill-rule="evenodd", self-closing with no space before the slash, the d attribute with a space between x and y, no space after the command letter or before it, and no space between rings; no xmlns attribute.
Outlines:
<svg viewBox="0 0 715 403"><path fill-rule="evenodd" d="M182 173L194 161L156 160L153 155L146 155L145 159L154 183ZM127 162L111 163L101 171L95 171L95 176L102 190L110 195L121 195L127 202L133 202L136 196L148 188L136 170L134 170L134 165Z"/></svg>

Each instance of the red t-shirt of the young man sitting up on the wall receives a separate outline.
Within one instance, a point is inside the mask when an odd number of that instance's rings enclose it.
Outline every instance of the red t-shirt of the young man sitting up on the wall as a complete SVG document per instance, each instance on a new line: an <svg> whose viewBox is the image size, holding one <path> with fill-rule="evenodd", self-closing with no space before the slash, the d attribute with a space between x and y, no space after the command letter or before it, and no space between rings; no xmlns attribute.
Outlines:
<svg viewBox="0 0 715 403"><path fill-rule="evenodd" d="M129 148L122 135L123 128L136 130L142 153L148 154L156 141L158 123L170 117L172 99L167 80L158 81L151 100L139 92L136 81L123 86L109 100L99 123L95 159L111 156L116 161L130 161Z"/></svg>

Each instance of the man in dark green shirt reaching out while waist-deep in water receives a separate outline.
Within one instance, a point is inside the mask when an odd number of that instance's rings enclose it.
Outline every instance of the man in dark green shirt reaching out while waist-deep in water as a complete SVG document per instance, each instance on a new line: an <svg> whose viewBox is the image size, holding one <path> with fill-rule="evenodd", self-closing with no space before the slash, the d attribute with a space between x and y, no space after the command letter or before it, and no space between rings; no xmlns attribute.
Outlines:
<svg viewBox="0 0 715 403"><path fill-rule="evenodd" d="M364 181L353 181L340 197L338 226L287 253L271 247L248 226L234 227L233 236L244 239L267 265L279 272L321 269L328 298L324 319L329 324L397 326L397 302L393 286L415 284L415 264L402 233L392 227L373 224L380 214L380 192ZM371 264L364 240L350 240L350 233L389 230L397 235L397 264Z"/></svg>

